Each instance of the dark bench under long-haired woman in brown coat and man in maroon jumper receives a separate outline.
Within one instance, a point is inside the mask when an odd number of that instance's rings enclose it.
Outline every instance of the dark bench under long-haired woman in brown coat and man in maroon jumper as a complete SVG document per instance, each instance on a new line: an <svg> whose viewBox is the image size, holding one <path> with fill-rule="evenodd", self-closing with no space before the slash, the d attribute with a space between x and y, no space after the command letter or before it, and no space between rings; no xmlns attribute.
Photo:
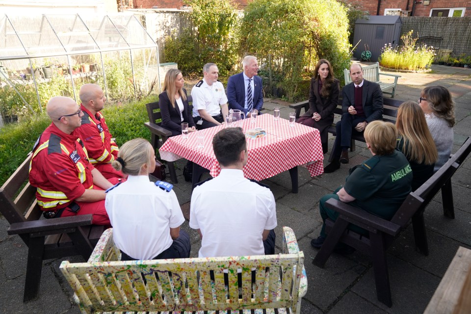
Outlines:
<svg viewBox="0 0 471 314"><path fill-rule="evenodd" d="M403 103L403 101L400 100L395 100L391 98L383 98L383 121L388 121L393 124L396 123L396 117L397 117L397 109L399 106ZM290 108L295 109L296 113L296 119L299 118L301 115L301 110L304 109L304 112L307 112L309 110L309 100L305 100L296 104L289 105ZM341 117L342 115L342 99L339 99L339 104L337 107L334 109L334 115L337 115ZM329 127L329 133L332 133L334 136L337 135L337 131L335 128L335 123L333 123ZM353 152L355 151L355 140L365 142L365 137L363 136L363 132L352 132L352 140L350 144L350 151ZM329 158L329 161L331 160L331 157Z"/></svg>

